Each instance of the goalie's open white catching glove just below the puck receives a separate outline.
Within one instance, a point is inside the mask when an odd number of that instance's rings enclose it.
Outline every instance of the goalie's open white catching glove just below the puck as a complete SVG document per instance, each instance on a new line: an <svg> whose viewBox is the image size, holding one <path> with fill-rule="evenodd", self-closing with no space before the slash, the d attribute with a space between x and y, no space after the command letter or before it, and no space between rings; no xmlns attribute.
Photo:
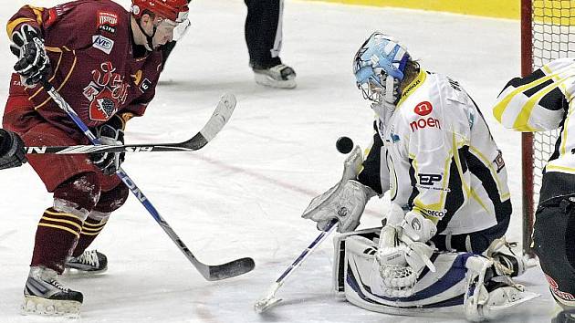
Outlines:
<svg viewBox="0 0 575 323"><path fill-rule="evenodd" d="M361 149L356 146L343 163L340 182L311 200L301 217L317 222L318 230L321 231L325 231L333 219L340 223L338 232L355 230L360 225L365 204L375 196L370 187L355 181L362 163Z"/></svg>

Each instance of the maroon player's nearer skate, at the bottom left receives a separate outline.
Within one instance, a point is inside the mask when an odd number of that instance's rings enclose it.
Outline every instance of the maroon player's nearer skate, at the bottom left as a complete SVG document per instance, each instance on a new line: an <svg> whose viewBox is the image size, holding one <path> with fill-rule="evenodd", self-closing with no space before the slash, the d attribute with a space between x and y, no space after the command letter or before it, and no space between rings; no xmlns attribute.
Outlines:
<svg viewBox="0 0 575 323"><path fill-rule="evenodd" d="M82 293L57 281L56 271L33 266L24 287L22 314L77 318L83 300Z"/></svg>

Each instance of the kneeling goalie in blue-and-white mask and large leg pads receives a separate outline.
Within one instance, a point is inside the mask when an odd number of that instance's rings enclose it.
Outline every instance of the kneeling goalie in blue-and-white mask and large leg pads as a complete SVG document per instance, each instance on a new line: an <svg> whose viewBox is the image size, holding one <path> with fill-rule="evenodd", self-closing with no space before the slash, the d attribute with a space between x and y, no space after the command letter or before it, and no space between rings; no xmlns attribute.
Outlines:
<svg viewBox="0 0 575 323"><path fill-rule="evenodd" d="M463 309L473 321L536 297L511 280L525 262L504 239L505 163L462 86L420 68L381 32L360 47L353 72L377 117L371 149L364 161L356 147L340 183L303 214L319 230L336 218L346 233L335 241L336 293L373 311ZM352 232L367 201L384 193L392 200L386 224Z"/></svg>

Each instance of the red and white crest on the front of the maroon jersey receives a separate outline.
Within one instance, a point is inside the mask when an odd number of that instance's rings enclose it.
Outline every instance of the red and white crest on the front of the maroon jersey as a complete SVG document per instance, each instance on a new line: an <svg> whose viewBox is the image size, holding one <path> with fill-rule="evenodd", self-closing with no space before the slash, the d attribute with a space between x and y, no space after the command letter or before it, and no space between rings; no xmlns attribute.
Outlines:
<svg viewBox="0 0 575 323"><path fill-rule="evenodd" d="M83 91L84 97L89 100L90 120L109 120L126 102L130 85L115 71L110 62L92 70L92 81Z"/></svg>

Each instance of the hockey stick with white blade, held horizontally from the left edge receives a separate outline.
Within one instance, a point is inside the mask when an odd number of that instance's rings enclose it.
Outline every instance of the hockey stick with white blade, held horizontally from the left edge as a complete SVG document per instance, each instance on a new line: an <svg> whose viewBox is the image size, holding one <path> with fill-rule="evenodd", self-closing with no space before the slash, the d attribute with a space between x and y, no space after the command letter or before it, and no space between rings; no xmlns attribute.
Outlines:
<svg viewBox="0 0 575 323"><path fill-rule="evenodd" d="M27 154L78 154L103 152L150 152L150 151L197 151L203 148L230 120L236 104L235 96L226 93L217 103L214 113L204 128L192 139L183 142L131 145L78 145L78 146L37 146L25 147Z"/></svg>

